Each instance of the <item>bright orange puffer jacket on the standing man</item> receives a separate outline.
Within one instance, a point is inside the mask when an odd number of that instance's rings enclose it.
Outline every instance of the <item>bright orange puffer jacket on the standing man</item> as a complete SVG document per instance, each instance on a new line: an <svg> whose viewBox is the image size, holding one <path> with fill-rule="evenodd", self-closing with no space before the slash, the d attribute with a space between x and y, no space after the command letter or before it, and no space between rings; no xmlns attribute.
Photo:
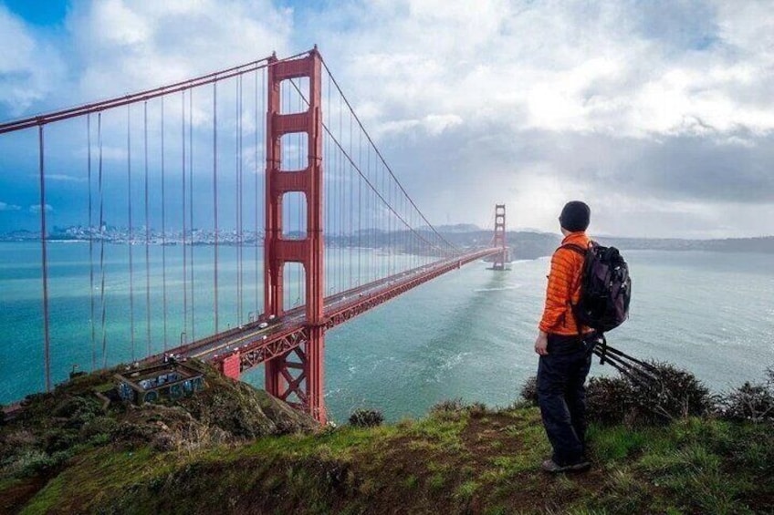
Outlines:
<svg viewBox="0 0 774 515"><path fill-rule="evenodd" d="M586 232L581 231L570 232L561 244L572 243L586 248L589 242ZM541 331L551 335L578 334L570 303L576 304L581 299L582 270L583 256L580 253L562 247L554 252L551 257L549 286L546 289L546 307L539 324ZM589 327L581 327L582 333L589 331Z"/></svg>

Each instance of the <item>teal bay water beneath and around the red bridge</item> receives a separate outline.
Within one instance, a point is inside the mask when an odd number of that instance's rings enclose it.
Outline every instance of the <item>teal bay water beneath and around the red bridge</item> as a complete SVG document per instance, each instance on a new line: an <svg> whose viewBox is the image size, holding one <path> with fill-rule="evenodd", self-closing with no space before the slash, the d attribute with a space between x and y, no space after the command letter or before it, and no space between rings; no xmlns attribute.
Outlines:
<svg viewBox="0 0 774 515"><path fill-rule="evenodd" d="M91 290L88 243L49 245L55 383L64 380L73 365L89 370L92 364L130 361L132 355L147 354L149 348L162 350L162 248L151 247L150 252L150 277L146 277L144 247L133 251L132 343L126 247L105 246L103 334L99 248L95 245L97 266ZM190 283L183 281L181 250L166 247L164 252L166 344L172 347L214 329L212 249L194 248L193 294ZM364 279L386 270L385 256L361 252L369 255L359 271ZM0 403L45 387L39 253L35 243L0 243ZM608 335L612 345L641 358L685 367L717 392L761 379L766 367L774 366L774 267L769 255L624 250L624 256L633 276L633 302L630 320ZM416 259L402 256L401 266L411 266ZM329 287L348 286L358 272L348 268L353 263L350 258L330 252L327 260ZM239 323L235 248L222 247L220 263L219 324L225 329ZM548 269L548 258L512 263L508 272L471 263L329 331L325 385L330 416L344 421L356 407L374 407L389 420L397 420L421 416L435 403L453 397L496 406L513 402L537 367L532 345ZM256 291L260 293L262 287L261 270L262 263L246 250L243 321L256 304L260 309L261 295L256 297ZM150 310L146 280L152 286ZM292 305L302 296L300 274L288 273L287 280L288 305ZM189 304L184 321L183 292ZM614 374L614 370L595 363L591 374ZM262 386L262 367L243 379Z"/></svg>

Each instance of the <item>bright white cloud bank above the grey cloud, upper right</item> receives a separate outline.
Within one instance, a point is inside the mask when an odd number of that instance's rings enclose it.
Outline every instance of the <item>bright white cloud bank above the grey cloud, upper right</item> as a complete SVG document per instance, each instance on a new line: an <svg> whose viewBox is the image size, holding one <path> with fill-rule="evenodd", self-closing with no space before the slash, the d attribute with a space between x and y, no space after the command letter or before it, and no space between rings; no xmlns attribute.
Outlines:
<svg viewBox="0 0 774 515"><path fill-rule="evenodd" d="M770 39L772 16L671 5L377 3L333 51L350 88L380 92L381 113L515 115L521 128L635 137L691 132L686 118L774 128L765 97L737 98L774 82L774 46L756 39Z"/></svg>

